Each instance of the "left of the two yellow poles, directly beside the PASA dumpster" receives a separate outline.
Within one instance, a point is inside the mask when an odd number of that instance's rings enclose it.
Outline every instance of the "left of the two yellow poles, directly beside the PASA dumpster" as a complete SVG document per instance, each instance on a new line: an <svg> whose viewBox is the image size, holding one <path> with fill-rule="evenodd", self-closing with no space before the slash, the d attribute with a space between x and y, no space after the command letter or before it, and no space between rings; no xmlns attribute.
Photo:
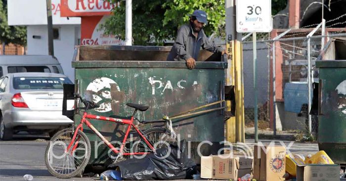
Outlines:
<svg viewBox="0 0 346 181"><path fill-rule="evenodd" d="M234 71L234 41L227 43L226 48L232 59L228 59L228 68L226 73L226 86L232 86L235 83L235 71ZM231 111L231 101L226 100L227 111ZM236 131L236 119L235 117L230 117L226 121L226 140L231 143L237 142L237 131Z"/></svg>

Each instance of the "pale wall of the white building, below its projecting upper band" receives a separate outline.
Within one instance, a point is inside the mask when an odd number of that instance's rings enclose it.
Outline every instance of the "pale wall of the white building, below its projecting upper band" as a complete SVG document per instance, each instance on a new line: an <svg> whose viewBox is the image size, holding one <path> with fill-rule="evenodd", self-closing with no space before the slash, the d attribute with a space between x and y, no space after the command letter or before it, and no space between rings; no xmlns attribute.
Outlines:
<svg viewBox="0 0 346 181"><path fill-rule="evenodd" d="M54 25L59 28L59 39L54 40L54 56L59 60L64 74L72 81L75 79L74 69L71 66L74 45L77 45L80 39L80 25ZM41 36L41 39L34 39L33 36ZM29 25L27 28L28 52L29 55L47 55L47 26Z"/></svg>

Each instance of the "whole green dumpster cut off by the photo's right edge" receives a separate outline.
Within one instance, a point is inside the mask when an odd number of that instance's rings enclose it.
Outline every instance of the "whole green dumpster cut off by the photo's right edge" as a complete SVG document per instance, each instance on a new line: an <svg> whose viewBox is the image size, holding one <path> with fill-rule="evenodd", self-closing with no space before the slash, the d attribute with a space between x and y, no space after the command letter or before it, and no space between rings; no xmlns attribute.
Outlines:
<svg viewBox="0 0 346 181"><path fill-rule="evenodd" d="M346 164L346 43L334 38L316 61L319 67L318 147Z"/></svg>

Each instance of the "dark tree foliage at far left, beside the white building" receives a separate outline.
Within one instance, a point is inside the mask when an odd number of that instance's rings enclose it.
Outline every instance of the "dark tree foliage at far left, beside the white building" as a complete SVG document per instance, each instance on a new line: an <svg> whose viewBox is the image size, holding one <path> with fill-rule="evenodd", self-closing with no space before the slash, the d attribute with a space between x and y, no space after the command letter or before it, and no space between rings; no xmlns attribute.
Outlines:
<svg viewBox="0 0 346 181"><path fill-rule="evenodd" d="M0 42L5 45L26 45L26 27L8 26L7 24L7 1L0 1Z"/></svg>

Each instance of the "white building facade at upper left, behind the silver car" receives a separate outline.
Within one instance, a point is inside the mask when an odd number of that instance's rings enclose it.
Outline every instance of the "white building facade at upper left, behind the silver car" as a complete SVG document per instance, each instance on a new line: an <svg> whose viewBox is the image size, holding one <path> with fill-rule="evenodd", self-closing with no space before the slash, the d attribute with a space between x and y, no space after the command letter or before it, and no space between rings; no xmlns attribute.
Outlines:
<svg viewBox="0 0 346 181"><path fill-rule="evenodd" d="M54 56L64 73L74 80L71 66L74 46L80 44L81 18L61 17L60 0L51 0ZM27 54L48 54L47 13L45 0L8 0L8 25L27 26Z"/></svg>

